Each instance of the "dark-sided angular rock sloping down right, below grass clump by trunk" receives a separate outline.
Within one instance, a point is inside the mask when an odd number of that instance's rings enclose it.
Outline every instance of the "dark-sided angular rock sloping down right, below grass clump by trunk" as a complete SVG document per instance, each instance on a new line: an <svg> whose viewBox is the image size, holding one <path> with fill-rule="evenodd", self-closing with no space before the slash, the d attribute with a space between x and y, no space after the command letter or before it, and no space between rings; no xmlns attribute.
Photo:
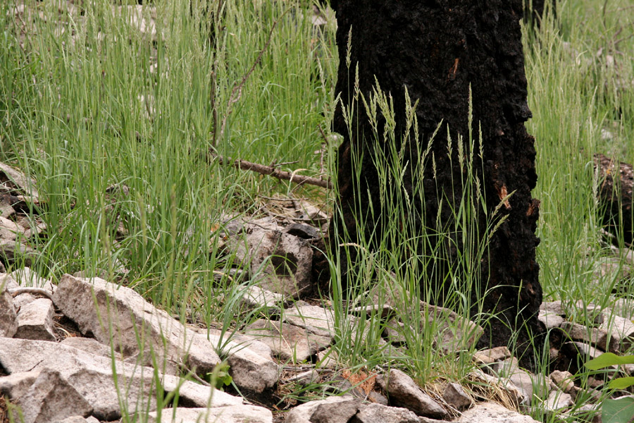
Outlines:
<svg viewBox="0 0 634 423"><path fill-rule="evenodd" d="M419 416L433 418L448 416L445 408L423 393L416 382L399 369L390 369L390 372L383 376L383 381L383 388L390 398L390 404L404 407ZM380 383L379 378L377 382Z"/></svg>

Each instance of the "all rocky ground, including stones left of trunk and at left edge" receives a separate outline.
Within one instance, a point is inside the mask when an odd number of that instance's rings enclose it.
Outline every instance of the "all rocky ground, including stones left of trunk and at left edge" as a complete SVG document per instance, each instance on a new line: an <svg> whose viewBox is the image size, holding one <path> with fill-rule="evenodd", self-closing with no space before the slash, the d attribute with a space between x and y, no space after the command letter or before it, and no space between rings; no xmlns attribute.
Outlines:
<svg viewBox="0 0 634 423"><path fill-rule="evenodd" d="M29 240L45 227L37 217L26 217L39 204L35 182L5 164L0 170L6 191L0 202L1 259L11 264L15 251L38 254ZM604 351L621 353L634 339L632 315L623 304L585 306L592 319L582 326L567 319L560 302L547 302L540 313L550 329L553 364L547 376L521 369L507 348L475 353L478 369L463 384L443 381L423 389L387 363L352 372L337 362L332 348L332 309L297 300L311 290L311 242L321 236L321 228L307 222L327 216L305 202L297 207L297 200L275 204L269 217L228 216L218 229L224 248L245 263L232 271L234 281L258 278L256 285L244 284L244 309L259 307L269 316L240 333L182 324L134 290L94 275L61 275L54 284L28 267L2 274L4 421L20 410L27 423L113 422L125 413L142 413L154 422L163 400L176 393L178 407L163 408L163 422L533 422L518 410L530 411L537 403L553 415L581 417L596 410L603 382L582 388L573 375L579 363ZM436 342L443 350L468 347L480 336L482 329L460 324L461 317L447 309L403 305L397 298L350 309L349 321L368 325L366 317L380 313L389 322L383 342L394 353L407 348L393 330L403 324L395 312L402 307L454 323L440 327ZM634 374L634 366L625 372ZM227 373L235 388L220 391L216 386L223 386ZM316 386L321 391L311 391ZM293 390L299 400L279 402ZM323 399L309 400L318 396ZM573 407L578 396L588 398L581 409ZM6 411L11 405L17 407Z"/></svg>

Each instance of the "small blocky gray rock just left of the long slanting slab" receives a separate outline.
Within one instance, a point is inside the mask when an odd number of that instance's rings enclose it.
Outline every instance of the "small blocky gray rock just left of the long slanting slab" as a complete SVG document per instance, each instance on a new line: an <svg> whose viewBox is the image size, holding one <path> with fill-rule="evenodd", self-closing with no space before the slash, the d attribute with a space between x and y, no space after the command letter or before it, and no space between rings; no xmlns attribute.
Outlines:
<svg viewBox="0 0 634 423"><path fill-rule="evenodd" d="M48 298L38 298L23 305L18 312L18 330L14 337L55 341L53 313L53 302Z"/></svg>

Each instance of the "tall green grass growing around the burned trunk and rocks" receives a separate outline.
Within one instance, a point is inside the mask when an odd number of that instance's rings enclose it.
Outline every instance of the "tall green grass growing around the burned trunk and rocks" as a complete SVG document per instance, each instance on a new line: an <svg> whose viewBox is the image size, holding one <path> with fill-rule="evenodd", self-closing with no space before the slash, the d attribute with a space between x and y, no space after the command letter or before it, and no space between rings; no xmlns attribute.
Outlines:
<svg viewBox="0 0 634 423"><path fill-rule="evenodd" d="M103 274L173 314L233 330L256 314L242 314L237 287L219 276L234 257L220 247L218 221L224 214L257 214L274 194L332 209L333 193L221 166L209 150L320 176L319 127L328 133L335 104L335 25L314 32L306 2L227 2L221 16L207 18L201 3L193 1L190 9L185 0L155 1L152 35L130 25L132 8L113 9L104 1L86 2L82 13L66 3L28 2L32 15L18 17L11 13L14 1L5 2L0 159L37 180L48 226L34 245L42 252L33 265L41 276ZM541 200L540 281L545 300L562 300L579 321L586 317L574 302L609 305L619 282L614 271L595 276L601 260L614 252L600 242L592 154L634 162L629 7L627 0L562 1L557 20L551 16L539 30L524 30L533 111L527 127L536 139L539 176L533 195ZM219 25L210 28L214 20ZM612 137L602 137L602 129ZM326 148L325 171L331 175L336 147ZM388 174L399 177L397 164L382 172L386 180ZM120 188L108 190L113 185ZM394 216L408 201L395 203ZM456 215L465 219L456 221L456 231L471 224L468 212L477 198L461 204L464 210ZM494 226L492 221L490 230ZM384 235L399 236L393 222L387 228L392 232ZM414 243L425 243L424 236L403 239L389 251L370 253L361 245L359 269L372 271L359 272L358 288L376 284L385 296L387 287L397 286L404 302L418 298L419 276L404 257ZM473 276L477 269L470 266L486 246L477 239L465 245L461 271ZM426 253L430 262L443 259L439 250ZM631 266L621 255L616 259L621 269ZM15 267L22 264L18 260ZM337 287L335 259L332 270ZM423 298L433 294L423 292ZM461 300L456 297L456 309L466 314L471 305ZM368 298L344 297L335 289L330 301L339 328L337 353L353 369L389 364L428 384L462 380L471 369L468 353L441 358L431 336L437 328L418 313L402 336L420 348L394 350L380 341L386 322L378 315L369 319L367 332L349 329L347 305L364 305ZM401 311L405 318L407 310Z"/></svg>

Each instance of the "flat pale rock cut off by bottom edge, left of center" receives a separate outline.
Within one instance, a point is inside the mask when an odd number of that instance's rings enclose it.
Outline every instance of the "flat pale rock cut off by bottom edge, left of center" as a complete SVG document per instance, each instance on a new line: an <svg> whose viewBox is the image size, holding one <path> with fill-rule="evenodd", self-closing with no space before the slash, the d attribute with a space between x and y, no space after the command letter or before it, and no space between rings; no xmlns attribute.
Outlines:
<svg viewBox="0 0 634 423"><path fill-rule="evenodd" d="M273 423L273 414L256 405L228 405L211 408L165 408L150 412L147 423Z"/></svg>

